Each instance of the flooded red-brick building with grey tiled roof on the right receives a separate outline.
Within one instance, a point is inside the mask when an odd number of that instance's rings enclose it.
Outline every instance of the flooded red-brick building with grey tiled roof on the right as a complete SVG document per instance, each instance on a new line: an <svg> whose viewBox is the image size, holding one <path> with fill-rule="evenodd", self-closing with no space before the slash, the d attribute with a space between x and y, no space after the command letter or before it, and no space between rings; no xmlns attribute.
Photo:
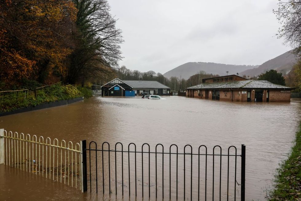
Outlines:
<svg viewBox="0 0 301 201"><path fill-rule="evenodd" d="M266 80L229 75L203 79L186 89L186 97L241 102L290 102L291 88Z"/></svg>

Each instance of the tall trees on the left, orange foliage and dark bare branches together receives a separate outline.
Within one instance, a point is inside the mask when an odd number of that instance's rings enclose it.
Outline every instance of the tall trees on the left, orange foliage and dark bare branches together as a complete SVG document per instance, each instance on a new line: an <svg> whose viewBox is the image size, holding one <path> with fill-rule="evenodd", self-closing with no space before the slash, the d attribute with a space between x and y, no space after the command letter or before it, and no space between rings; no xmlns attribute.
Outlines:
<svg viewBox="0 0 301 201"><path fill-rule="evenodd" d="M0 2L0 89L81 83L111 73L121 30L107 0Z"/></svg>

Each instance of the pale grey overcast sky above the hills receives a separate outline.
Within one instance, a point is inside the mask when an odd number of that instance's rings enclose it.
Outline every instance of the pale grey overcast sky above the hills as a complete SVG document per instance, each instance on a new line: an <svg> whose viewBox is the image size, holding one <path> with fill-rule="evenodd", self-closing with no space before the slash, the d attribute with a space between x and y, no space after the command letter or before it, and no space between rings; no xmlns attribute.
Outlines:
<svg viewBox="0 0 301 201"><path fill-rule="evenodd" d="M259 65L290 50L277 39L277 0L111 0L132 70L165 73L186 62Z"/></svg>

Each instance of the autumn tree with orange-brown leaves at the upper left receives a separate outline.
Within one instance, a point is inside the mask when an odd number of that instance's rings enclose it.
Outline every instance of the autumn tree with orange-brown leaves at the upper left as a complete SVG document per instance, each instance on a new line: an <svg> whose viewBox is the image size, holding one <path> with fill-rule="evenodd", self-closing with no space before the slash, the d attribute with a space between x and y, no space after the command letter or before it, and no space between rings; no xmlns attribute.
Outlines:
<svg viewBox="0 0 301 201"><path fill-rule="evenodd" d="M64 76L76 12L68 0L1 2L0 81L11 84L27 78L45 83L56 77L53 74Z"/></svg>

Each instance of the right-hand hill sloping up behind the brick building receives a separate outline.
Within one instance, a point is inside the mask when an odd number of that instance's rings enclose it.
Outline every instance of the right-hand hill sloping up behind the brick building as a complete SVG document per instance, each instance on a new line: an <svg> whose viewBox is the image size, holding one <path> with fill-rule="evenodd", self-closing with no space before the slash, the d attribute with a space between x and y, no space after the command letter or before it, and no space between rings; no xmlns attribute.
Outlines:
<svg viewBox="0 0 301 201"><path fill-rule="evenodd" d="M283 75L287 74L288 71L291 70L293 65L297 62L298 57L290 53L290 51L279 55L271 60L264 62L259 65L257 68L248 69L240 72L241 75L254 76L260 75L261 73L265 73L268 70L274 69L278 72L281 72Z"/></svg>

